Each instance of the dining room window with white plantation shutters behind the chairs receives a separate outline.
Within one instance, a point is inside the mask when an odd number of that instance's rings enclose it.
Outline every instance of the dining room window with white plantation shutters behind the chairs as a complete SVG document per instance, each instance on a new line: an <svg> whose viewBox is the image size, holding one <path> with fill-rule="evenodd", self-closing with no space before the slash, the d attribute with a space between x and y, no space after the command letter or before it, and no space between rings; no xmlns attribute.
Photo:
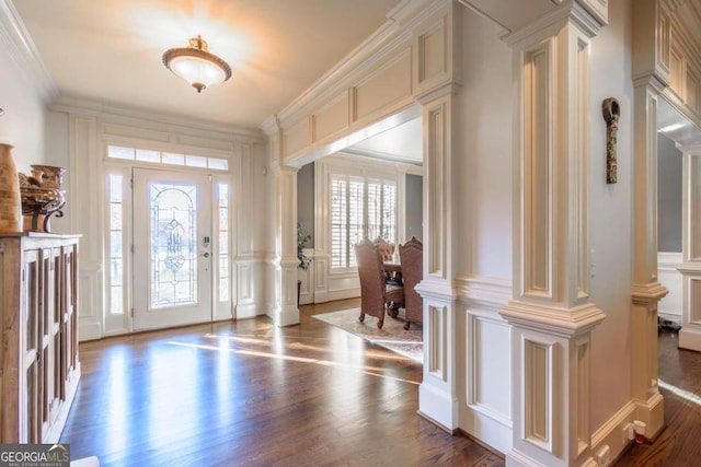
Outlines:
<svg viewBox="0 0 701 467"><path fill-rule="evenodd" d="M357 267L353 246L364 238L395 243L394 180L334 174L330 194L332 268Z"/></svg>

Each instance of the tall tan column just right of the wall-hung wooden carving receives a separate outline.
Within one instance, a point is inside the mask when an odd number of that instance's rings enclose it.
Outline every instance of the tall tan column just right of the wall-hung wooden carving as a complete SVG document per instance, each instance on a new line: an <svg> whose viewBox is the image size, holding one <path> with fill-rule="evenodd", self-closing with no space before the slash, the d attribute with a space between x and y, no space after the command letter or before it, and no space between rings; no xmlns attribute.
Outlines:
<svg viewBox="0 0 701 467"><path fill-rule="evenodd" d="M657 101L669 83L670 21L657 0L631 2L633 75L633 283L631 389L635 419L654 437L663 428L657 389L657 304L667 294L657 279Z"/></svg>

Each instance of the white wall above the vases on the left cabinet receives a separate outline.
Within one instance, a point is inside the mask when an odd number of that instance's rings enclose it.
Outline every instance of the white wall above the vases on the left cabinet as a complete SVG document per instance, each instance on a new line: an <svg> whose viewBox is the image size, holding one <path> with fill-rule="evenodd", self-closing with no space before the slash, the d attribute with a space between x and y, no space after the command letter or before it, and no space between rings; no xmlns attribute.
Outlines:
<svg viewBox="0 0 701 467"><path fill-rule="evenodd" d="M30 173L31 164L42 164L45 155L46 114L42 95L21 59L10 48L0 25L0 142L12 144L18 171Z"/></svg>

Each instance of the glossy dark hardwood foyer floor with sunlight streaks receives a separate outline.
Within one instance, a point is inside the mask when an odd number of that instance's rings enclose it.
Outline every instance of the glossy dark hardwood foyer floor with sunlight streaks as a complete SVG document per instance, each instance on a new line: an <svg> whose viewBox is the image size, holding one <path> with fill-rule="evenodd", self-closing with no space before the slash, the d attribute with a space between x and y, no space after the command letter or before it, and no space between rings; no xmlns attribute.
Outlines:
<svg viewBox="0 0 701 467"><path fill-rule="evenodd" d="M61 442L102 466L503 466L416 415L421 364L311 318L357 304L81 343Z"/></svg>

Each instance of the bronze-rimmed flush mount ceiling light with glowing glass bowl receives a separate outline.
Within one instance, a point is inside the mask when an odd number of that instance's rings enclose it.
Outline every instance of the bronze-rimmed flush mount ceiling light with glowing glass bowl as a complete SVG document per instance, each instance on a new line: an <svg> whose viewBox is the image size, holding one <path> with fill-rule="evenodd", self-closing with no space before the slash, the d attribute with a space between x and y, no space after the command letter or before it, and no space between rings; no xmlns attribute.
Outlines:
<svg viewBox="0 0 701 467"><path fill-rule="evenodd" d="M163 52L163 65L187 81L198 93L231 78L231 67L210 54L202 36L189 39L189 47L171 48Z"/></svg>

